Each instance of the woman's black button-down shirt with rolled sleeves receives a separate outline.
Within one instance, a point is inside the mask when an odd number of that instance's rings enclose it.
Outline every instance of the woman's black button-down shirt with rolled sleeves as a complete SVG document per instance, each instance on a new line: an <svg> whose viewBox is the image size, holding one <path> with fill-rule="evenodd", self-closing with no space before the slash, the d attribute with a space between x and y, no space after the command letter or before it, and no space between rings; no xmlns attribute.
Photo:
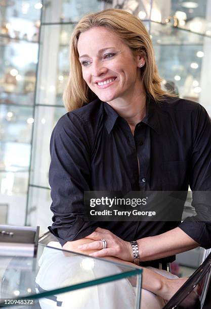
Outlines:
<svg viewBox="0 0 211 309"><path fill-rule="evenodd" d="M211 224L197 217L182 223L83 221L83 191L187 191L189 185L193 191L211 190L211 123L198 103L171 97L156 103L147 97L146 117L133 135L123 118L96 99L60 118L50 150L54 216L49 229L62 245L98 226L132 241L179 225L201 246L211 246ZM203 213L200 201L193 205Z"/></svg>

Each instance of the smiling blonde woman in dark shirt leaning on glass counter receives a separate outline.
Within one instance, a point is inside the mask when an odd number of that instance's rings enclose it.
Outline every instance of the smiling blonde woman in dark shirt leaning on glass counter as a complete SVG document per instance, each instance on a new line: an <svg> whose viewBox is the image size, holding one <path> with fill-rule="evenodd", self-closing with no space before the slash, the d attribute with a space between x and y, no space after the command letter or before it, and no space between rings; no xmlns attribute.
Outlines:
<svg viewBox="0 0 211 309"><path fill-rule="evenodd" d="M202 203L193 193L198 215L182 224L83 220L84 191L211 189L208 115L199 104L164 92L160 81L149 34L136 17L109 9L76 25L64 93L69 113L52 134L49 175L50 231L65 249L128 263L135 252L140 265L166 270L176 253L211 246L206 195Z"/></svg>

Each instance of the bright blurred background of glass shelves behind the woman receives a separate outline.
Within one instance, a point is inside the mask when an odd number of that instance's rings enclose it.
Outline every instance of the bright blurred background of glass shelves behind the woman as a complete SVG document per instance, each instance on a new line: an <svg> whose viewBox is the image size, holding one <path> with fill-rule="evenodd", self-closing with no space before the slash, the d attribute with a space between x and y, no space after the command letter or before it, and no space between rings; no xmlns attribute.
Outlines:
<svg viewBox="0 0 211 309"><path fill-rule="evenodd" d="M143 21L162 87L211 115L211 0L0 0L0 224L39 225L41 233L51 224L49 142L66 113L70 35L83 15L106 8ZM190 254L177 261L192 271L201 250Z"/></svg>

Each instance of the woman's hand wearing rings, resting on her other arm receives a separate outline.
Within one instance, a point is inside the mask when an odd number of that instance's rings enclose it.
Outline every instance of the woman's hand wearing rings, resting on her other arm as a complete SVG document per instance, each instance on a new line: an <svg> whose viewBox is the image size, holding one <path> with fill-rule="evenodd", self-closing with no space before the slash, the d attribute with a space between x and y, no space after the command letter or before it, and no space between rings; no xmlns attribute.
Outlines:
<svg viewBox="0 0 211 309"><path fill-rule="evenodd" d="M78 246L78 249L81 251L100 250L90 254L92 256L96 256L97 258L102 258L103 256L116 256L116 258L124 261L133 262L134 260L131 243L129 241L122 240L106 229L101 229L98 227L86 238L90 238L95 241ZM101 239L106 240L107 246L105 249L103 249L103 242Z"/></svg>

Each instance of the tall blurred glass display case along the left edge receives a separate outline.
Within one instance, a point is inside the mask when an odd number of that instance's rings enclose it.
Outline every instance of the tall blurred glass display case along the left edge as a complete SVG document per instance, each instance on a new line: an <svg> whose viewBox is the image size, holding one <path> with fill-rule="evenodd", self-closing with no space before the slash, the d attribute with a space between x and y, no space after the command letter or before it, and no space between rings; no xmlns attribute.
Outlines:
<svg viewBox="0 0 211 309"><path fill-rule="evenodd" d="M35 0L0 1L0 201L7 205L0 216L6 224L25 224L40 14Z"/></svg>

